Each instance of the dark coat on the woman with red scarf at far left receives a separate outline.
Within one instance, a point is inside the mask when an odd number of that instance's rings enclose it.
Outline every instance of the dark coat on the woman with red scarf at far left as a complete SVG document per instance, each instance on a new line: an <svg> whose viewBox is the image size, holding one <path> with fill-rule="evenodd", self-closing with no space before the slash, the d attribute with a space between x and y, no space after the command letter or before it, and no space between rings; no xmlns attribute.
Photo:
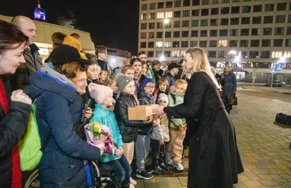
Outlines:
<svg viewBox="0 0 291 188"><path fill-rule="evenodd" d="M10 100L11 92L8 78L1 75L0 79L5 89L4 92ZM9 102L10 105L6 115L0 105L0 188L10 188L11 186L11 149L25 132L31 111L31 105L29 104L17 101Z"/></svg>

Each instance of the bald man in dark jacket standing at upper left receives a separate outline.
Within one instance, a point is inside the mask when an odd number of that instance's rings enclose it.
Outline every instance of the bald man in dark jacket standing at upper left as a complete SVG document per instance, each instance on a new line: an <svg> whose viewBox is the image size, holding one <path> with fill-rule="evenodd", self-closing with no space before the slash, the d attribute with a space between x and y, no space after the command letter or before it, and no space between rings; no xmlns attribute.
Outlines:
<svg viewBox="0 0 291 188"><path fill-rule="evenodd" d="M28 94L33 74L42 68L42 58L39 56L40 48L34 44L37 38L37 28L36 24L25 16L15 16L11 23L29 38L29 46L23 53L25 63L21 63L15 74L10 76L11 89L12 91L22 89L24 93Z"/></svg>

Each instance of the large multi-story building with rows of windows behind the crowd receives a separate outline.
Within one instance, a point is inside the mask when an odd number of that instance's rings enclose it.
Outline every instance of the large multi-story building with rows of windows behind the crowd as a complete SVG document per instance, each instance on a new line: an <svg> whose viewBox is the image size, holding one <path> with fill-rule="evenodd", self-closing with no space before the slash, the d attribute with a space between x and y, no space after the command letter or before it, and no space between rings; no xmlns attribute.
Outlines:
<svg viewBox="0 0 291 188"><path fill-rule="evenodd" d="M231 66L238 80L256 73L269 81L282 64L280 78L291 82L291 0L140 0L139 8L138 49L148 60L178 62L202 47L212 66Z"/></svg>

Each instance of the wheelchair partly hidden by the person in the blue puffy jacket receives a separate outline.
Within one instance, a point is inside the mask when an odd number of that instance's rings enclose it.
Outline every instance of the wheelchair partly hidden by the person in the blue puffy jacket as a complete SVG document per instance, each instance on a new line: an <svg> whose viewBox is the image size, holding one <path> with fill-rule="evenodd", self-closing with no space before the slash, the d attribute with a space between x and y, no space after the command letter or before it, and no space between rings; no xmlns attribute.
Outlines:
<svg viewBox="0 0 291 188"><path fill-rule="evenodd" d="M91 188L119 188L117 177L114 175L110 163L93 162L95 186ZM40 188L39 169L34 171L25 183L24 188Z"/></svg>

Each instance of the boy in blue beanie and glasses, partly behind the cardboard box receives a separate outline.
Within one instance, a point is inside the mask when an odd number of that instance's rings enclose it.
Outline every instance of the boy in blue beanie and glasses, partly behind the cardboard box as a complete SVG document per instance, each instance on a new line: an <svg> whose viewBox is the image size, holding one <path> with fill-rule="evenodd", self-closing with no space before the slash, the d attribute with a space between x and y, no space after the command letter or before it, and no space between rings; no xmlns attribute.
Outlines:
<svg viewBox="0 0 291 188"><path fill-rule="evenodd" d="M138 94L138 100L140 105L155 104L156 99L153 95L155 91L155 81L151 78L146 78L142 81L142 88ZM135 142L135 155L136 155L136 177L149 180L153 178L151 174L153 171L145 169L145 159L147 158L150 151L151 143L151 131L155 124L147 124L142 127L141 130L137 131L137 138Z"/></svg>

